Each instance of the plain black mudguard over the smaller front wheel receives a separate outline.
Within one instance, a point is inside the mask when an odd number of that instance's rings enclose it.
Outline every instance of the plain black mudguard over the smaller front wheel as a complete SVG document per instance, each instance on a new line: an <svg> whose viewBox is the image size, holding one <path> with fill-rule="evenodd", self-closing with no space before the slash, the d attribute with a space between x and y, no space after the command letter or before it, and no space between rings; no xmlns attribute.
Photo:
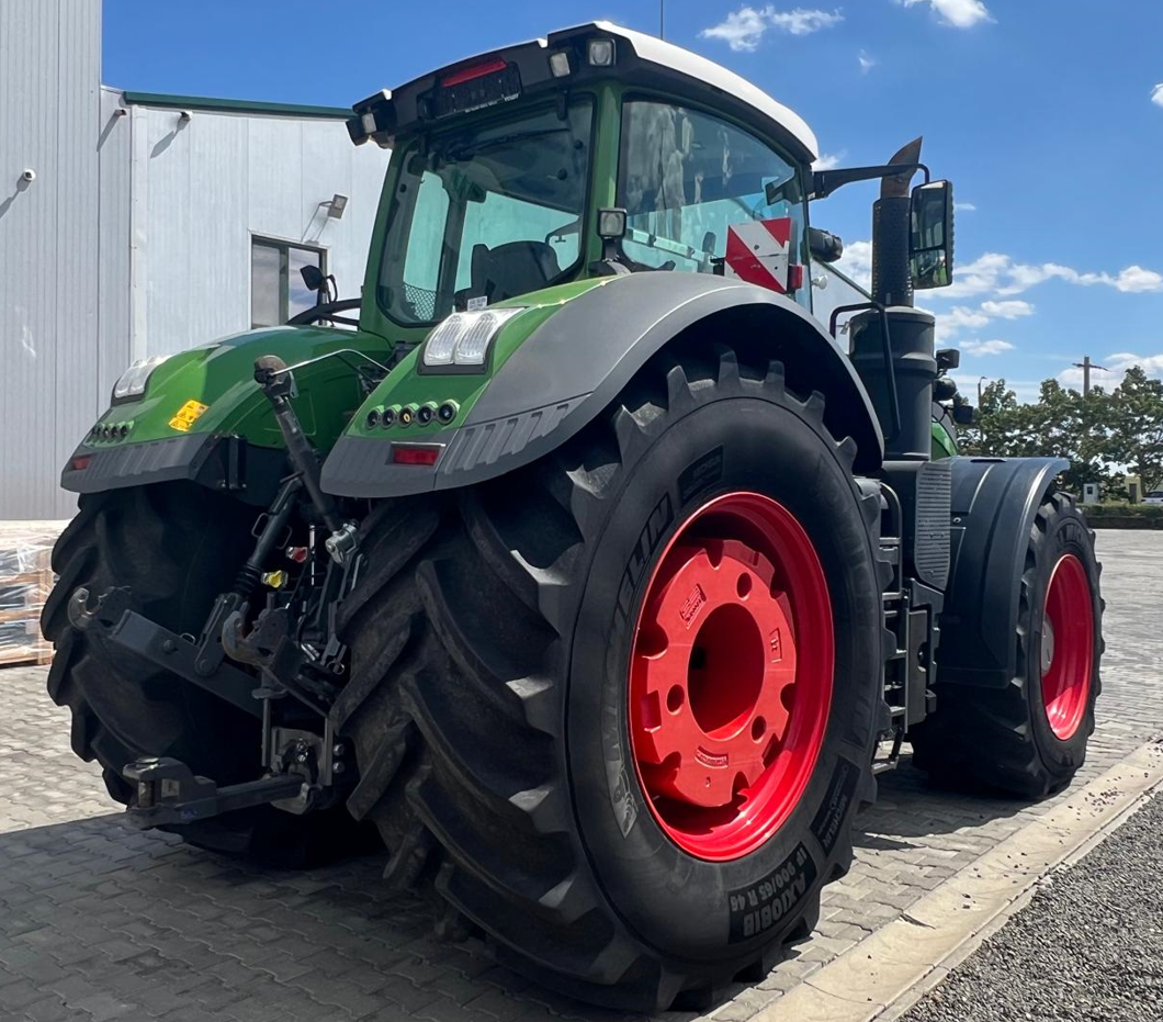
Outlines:
<svg viewBox="0 0 1163 1022"><path fill-rule="evenodd" d="M937 684L1004 688L1014 677L1029 531L1064 457L952 457L952 562Z"/></svg>

